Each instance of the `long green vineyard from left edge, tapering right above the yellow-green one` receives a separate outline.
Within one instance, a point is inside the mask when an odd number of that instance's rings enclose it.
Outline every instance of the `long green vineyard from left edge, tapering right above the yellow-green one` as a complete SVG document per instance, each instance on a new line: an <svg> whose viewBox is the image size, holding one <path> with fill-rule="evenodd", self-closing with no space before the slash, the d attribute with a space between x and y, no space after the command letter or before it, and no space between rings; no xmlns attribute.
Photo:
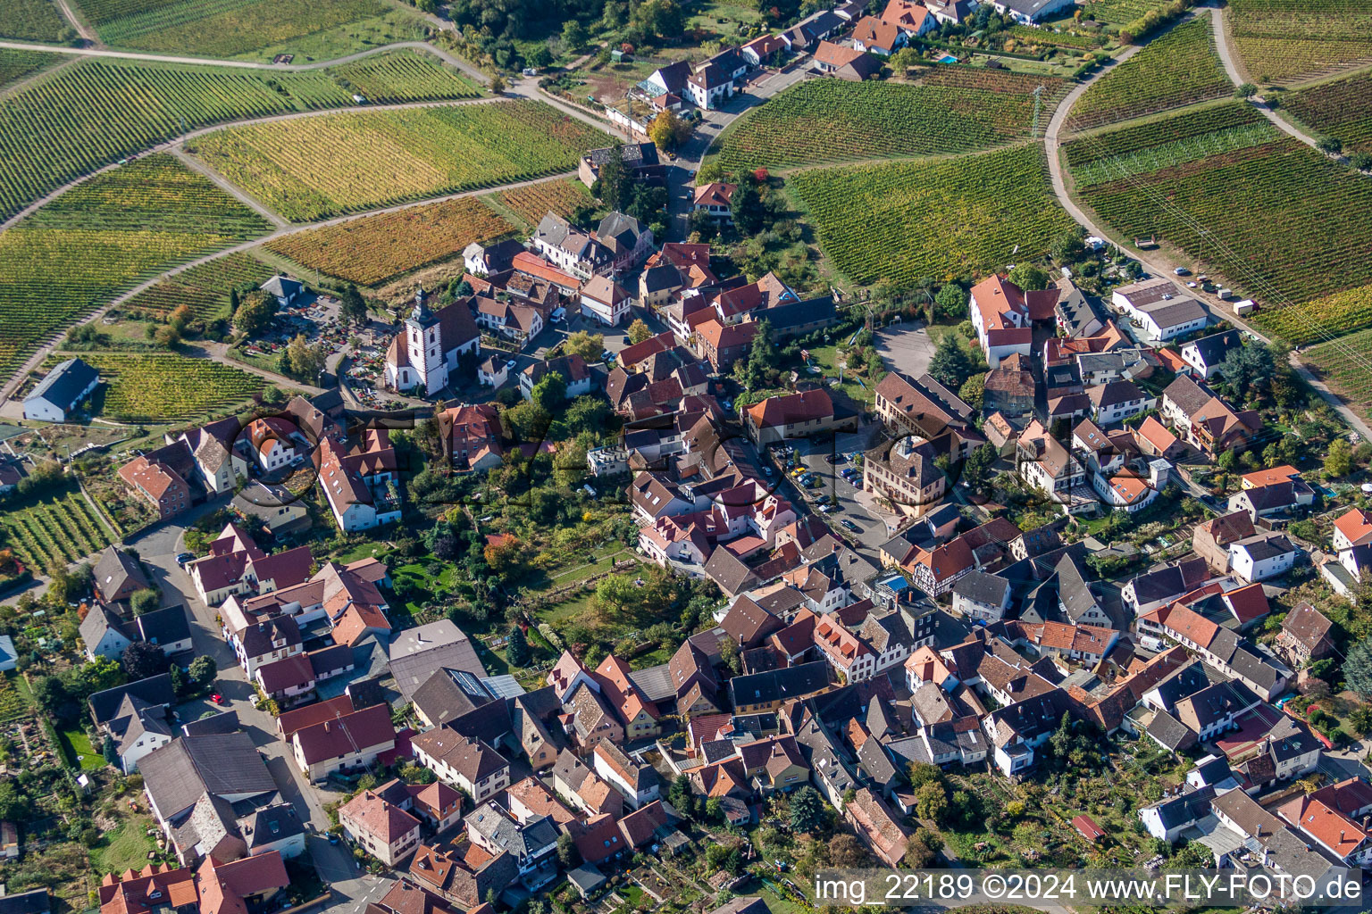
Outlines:
<svg viewBox="0 0 1372 914"><path fill-rule="evenodd" d="M0 106L0 218L44 193L176 136L215 123L355 103L339 77L386 99L473 95L431 58L365 59L333 70L258 73L88 59L23 86Z"/></svg>

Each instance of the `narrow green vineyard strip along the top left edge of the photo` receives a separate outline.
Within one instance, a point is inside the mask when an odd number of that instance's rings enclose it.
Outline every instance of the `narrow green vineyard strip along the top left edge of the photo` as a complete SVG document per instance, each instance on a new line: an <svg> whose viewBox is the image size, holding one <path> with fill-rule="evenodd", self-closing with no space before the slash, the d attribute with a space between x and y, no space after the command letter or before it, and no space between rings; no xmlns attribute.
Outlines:
<svg viewBox="0 0 1372 914"><path fill-rule="evenodd" d="M107 44L209 58L332 58L423 38L423 19L386 0L75 0ZM369 26L383 23L373 34ZM317 53L327 51L327 53ZM296 60L302 63L303 60Z"/></svg>

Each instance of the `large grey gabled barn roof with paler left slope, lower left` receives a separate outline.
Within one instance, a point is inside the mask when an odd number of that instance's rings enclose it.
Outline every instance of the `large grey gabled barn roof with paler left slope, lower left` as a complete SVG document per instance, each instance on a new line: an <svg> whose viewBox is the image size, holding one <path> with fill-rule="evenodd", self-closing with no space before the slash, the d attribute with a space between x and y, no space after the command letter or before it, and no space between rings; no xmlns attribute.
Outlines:
<svg viewBox="0 0 1372 914"><path fill-rule="evenodd" d="M143 785L158 811L174 817L202 793L257 796L276 781L247 733L182 736L139 762Z"/></svg>

